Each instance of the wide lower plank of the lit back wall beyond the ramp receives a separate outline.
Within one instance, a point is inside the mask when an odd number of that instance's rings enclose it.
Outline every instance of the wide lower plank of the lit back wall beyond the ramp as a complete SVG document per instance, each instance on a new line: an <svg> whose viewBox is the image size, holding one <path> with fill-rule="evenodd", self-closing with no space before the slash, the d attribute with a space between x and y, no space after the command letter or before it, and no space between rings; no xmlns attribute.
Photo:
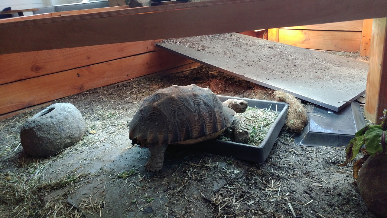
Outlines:
<svg viewBox="0 0 387 218"><path fill-rule="evenodd" d="M361 32L279 29L279 42L301 48L356 52Z"/></svg>

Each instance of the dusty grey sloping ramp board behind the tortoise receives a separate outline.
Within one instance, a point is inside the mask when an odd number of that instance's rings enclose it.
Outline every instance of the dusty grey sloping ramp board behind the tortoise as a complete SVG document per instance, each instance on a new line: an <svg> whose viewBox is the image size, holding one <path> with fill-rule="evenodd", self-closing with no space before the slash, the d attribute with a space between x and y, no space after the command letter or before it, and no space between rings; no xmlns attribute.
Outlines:
<svg viewBox="0 0 387 218"><path fill-rule="evenodd" d="M158 46L338 111L365 93L368 63L238 33L163 40Z"/></svg>

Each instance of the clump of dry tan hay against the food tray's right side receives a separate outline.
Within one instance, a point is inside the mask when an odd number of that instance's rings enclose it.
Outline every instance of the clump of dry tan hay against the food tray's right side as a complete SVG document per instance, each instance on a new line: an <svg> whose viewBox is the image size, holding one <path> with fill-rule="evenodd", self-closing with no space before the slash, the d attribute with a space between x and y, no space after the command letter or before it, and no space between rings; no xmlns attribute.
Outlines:
<svg viewBox="0 0 387 218"><path fill-rule="evenodd" d="M296 97L283 91L275 91L274 98L277 101L283 101L289 104L288 118L285 122L288 130L301 133L305 125L308 123L308 116L306 114L307 110L305 109L305 106L301 104L301 101L296 99Z"/></svg>

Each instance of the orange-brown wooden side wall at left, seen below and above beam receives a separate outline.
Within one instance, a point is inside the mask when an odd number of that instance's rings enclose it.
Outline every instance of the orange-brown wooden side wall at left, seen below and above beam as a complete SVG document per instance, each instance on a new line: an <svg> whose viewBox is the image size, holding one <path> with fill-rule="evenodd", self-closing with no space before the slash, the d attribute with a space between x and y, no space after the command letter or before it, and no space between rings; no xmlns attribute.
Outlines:
<svg viewBox="0 0 387 218"><path fill-rule="evenodd" d="M95 10L101 9L55 12L31 17L61 16L63 13L85 13ZM12 19L28 19L28 17ZM194 61L156 48L155 43L158 41L126 42L0 55L1 118L17 114L27 107L88 89L159 71L170 70L173 73L199 66Z"/></svg>

